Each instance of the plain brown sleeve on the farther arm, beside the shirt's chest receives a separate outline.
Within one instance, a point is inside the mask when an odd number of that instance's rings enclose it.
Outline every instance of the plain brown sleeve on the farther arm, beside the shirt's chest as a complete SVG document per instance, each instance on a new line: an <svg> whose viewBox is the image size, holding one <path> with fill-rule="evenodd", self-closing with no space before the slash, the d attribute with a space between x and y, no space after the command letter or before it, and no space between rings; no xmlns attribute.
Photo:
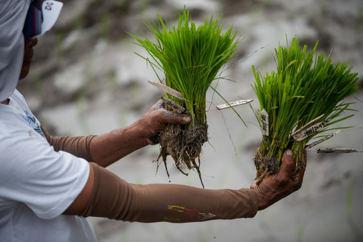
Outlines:
<svg viewBox="0 0 363 242"><path fill-rule="evenodd" d="M93 162L93 159L90 155L90 143L91 139L93 139L93 137L96 135L58 137L50 135L48 132L46 132L46 130L43 129L42 126L40 126L40 128L42 129L46 140L51 146L54 147L55 151L66 151L72 155L75 155L76 157L83 158L88 162Z"/></svg>

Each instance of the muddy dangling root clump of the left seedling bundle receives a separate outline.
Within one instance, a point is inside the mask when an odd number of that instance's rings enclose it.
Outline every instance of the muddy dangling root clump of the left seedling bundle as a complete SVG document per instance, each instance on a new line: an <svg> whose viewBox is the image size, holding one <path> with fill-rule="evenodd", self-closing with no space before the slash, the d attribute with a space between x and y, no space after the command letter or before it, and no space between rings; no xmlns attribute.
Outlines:
<svg viewBox="0 0 363 242"><path fill-rule="evenodd" d="M207 122L204 124L193 124L193 125L168 125L159 134L160 142L160 157L162 157L165 164L165 169L169 177L169 172L166 167L166 158L170 155L175 163L175 167L183 173L185 166L192 170L195 168L199 174L200 182L204 188L203 181L200 174L200 155L202 154L202 146L208 141L208 125ZM196 164L198 159L198 165Z"/></svg>

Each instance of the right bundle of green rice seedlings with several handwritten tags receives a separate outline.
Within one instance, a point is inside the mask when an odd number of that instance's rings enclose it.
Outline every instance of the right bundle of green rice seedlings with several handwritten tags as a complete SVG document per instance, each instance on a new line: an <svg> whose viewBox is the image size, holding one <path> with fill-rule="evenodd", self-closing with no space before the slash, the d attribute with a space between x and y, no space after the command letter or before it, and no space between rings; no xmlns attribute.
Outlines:
<svg viewBox="0 0 363 242"><path fill-rule="evenodd" d="M329 126L354 116L337 119L344 111L352 110L348 108L352 103L344 103L343 99L358 92L358 73L351 73L349 62L334 65L330 55L327 58L324 53L318 55L317 45L318 42L313 50L307 51L307 46L299 46L295 37L291 46L284 48L279 44L275 49L277 71L262 76L252 66L255 77L252 87L260 101L260 110L265 109L269 119L269 135L262 135L261 146L253 159L258 183L279 171L286 149L294 153L295 167L291 175L294 177L305 166L303 150L307 142L327 136L322 132L351 128ZM260 110L254 109L254 113L262 129ZM307 132L304 139L296 141L294 132L299 133L298 130L312 120L318 124L325 122L319 127L310 125L313 132Z"/></svg>

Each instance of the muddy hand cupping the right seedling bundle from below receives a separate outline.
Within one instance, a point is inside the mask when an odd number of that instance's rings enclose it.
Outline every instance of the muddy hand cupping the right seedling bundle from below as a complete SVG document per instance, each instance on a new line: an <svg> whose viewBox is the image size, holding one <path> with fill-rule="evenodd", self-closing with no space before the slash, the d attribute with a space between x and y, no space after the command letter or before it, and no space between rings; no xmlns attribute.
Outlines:
<svg viewBox="0 0 363 242"><path fill-rule="evenodd" d="M306 164L305 150L304 162ZM258 196L258 210L267 208L301 187L305 170L301 170L299 175L290 178L293 168L293 152L286 150L282 156L280 171L277 174L264 178L259 185L256 184L256 181L252 183L251 188L256 191Z"/></svg>

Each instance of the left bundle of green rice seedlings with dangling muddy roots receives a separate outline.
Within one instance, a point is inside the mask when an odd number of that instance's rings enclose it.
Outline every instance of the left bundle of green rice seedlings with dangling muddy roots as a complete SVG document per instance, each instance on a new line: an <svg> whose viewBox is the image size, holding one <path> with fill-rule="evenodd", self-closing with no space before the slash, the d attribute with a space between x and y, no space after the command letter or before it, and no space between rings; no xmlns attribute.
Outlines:
<svg viewBox="0 0 363 242"><path fill-rule="evenodd" d="M232 26L223 33L223 24L219 25L219 19L213 20L213 16L196 26L185 8L179 16L178 26L170 27L159 14L158 18L157 24L146 23L155 34L154 42L144 34L143 39L131 36L137 40L134 43L147 50L151 61L140 56L150 63L154 71L159 69L164 73L165 79L161 80L155 71L159 81L180 92L183 100L169 94L165 94L165 97L184 107L185 113L192 119L189 125L168 125L161 132L159 158L162 157L166 167L166 157L170 155L183 174L188 175L183 171L186 166L189 170L196 168L200 176L195 160L198 158L200 165L202 145L208 141L206 92L213 80L223 78L216 76L234 58L233 53L240 41L236 40Z"/></svg>

